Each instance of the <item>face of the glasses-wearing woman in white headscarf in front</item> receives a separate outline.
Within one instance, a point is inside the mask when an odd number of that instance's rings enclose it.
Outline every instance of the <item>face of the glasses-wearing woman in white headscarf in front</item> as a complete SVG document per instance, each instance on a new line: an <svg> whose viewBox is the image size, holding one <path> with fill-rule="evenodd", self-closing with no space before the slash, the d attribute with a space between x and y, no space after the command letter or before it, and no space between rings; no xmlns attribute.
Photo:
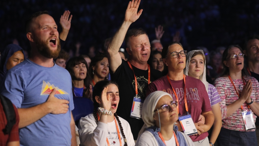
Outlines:
<svg viewBox="0 0 259 146"><path fill-rule="evenodd" d="M165 104L170 105L172 101L173 101L172 98L168 95L161 97L158 100L155 110L161 108ZM162 109L159 109L159 115L160 115L161 127L164 125L174 124L174 122L178 120L178 111L176 107L170 106L168 111L163 111ZM159 117L158 117L157 111L155 111L154 120L155 120L156 126L159 127Z"/></svg>

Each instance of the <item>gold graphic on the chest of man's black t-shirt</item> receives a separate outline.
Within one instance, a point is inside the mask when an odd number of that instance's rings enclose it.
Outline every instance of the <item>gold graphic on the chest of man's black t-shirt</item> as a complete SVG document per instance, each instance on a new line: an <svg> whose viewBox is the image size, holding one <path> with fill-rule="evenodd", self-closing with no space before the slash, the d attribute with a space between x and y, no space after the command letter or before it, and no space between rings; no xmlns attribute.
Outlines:
<svg viewBox="0 0 259 146"><path fill-rule="evenodd" d="M148 88L148 79L144 78L144 76L141 76L141 77L136 76L136 79L137 79L137 82L138 82L138 89L139 89L138 95L141 98L145 98L146 97L146 90ZM150 81L150 83L151 83L151 81ZM132 85L135 89L135 79L133 80Z"/></svg>

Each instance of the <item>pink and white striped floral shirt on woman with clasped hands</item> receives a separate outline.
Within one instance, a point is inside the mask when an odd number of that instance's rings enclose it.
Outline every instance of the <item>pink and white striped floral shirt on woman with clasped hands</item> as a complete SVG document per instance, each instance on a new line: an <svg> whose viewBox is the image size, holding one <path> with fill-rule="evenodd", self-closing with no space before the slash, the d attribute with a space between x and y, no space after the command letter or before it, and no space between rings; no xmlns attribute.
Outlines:
<svg viewBox="0 0 259 146"><path fill-rule="evenodd" d="M253 87L251 99L253 99L254 102L256 103L259 103L259 83L254 77L251 77L251 76L245 77L245 81L248 81L249 79L251 79L252 87ZM233 83L235 84L235 87L240 95L244 86L243 79L233 80ZM239 107L239 109L232 115L228 117L226 116L227 106L239 98L229 78L227 79L222 77L217 78L214 82L214 86L216 87L221 99L220 109L221 109L221 115L222 115L222 127L230 130L246 131L244 120L242 117L241 107ZM243 108L244 110L248 110L246 102L243 103ZM255 122L257 116L255 116L253 111L252 113L253 113L254 122ZM248 130L248 131L255 131L255 129Z"/></svg>

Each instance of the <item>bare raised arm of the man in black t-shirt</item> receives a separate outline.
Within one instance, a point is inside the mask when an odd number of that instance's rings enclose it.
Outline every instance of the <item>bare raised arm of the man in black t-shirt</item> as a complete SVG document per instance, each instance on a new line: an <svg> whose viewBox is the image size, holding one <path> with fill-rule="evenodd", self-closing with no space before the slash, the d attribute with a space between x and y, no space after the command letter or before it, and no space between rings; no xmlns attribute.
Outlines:
<svg viewBox="0 0 259 146"><path fill-rule="evenodd" d="M129 29L130 24L135 22L143 11L141 9L138 12L139 3L140 3L140 0L136 0L136 1L132 0L131 2L129 2L125 12L124 21L120 26L119 30L112 37L111 42L108 46L108 49L107 49L108 61L109 61L109 65L112 73L114 73L117 70L117 68L121 65L122 61L118 51L120 49L121 44L123 43L127 30Z"/></svg>

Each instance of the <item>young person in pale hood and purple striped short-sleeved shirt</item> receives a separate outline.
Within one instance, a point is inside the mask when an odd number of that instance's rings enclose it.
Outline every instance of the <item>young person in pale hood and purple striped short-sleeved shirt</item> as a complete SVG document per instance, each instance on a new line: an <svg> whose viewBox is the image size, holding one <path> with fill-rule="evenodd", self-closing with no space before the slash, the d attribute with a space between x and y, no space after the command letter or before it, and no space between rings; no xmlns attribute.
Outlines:
<svg viewBox="0 0 259 146"><path fill-rule="evenodd" d="M211 130L211 135L209 142L211 146L214 146L215 141L220 133L222 126L221 122L221 110L220 110L220 96L217 89L206 81L206 60L202 50L193 50L186 55L186 68L184 69L184 74L193 78L200 79L208 92L208 96L211 102L211 109L214 114L215 120L213 123L213 128Z"/></svg>

